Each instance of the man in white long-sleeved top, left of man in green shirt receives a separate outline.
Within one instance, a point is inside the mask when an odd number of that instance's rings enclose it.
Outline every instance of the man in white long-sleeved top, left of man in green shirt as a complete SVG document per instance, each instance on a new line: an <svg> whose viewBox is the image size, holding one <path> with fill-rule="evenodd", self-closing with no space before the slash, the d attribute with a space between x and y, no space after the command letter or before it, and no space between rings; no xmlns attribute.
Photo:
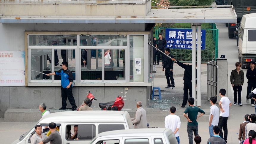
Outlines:
<svg viewBox="0 0 256 144"><path fill-rule="evenodd" d="M179 132L178 130L181 127L181 120L180 117L175 115L176 107L170 107L170 115L167 115L165 117L165 128L171 129L173 131L173 134L175 134L175 137L178 141L178 144L180 143L179 138Z"/></svg>

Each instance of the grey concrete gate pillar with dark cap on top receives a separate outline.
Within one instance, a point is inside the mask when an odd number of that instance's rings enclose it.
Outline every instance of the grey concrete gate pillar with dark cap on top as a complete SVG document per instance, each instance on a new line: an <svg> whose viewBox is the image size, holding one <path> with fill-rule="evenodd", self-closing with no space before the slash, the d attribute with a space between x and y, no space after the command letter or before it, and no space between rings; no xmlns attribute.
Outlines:
<svg viewBox="0 0 256 144"><path fill-rule="evenodd" d="M221 88L224 88L226 90L226 96L228 96L227 93L227 84L228 82L228 74L227 74L227 58L217 58L217 66L218 66L218 81L217 81L217 88L218 91ZM218 96L217 100L220 100L220 96Z"/></svg>

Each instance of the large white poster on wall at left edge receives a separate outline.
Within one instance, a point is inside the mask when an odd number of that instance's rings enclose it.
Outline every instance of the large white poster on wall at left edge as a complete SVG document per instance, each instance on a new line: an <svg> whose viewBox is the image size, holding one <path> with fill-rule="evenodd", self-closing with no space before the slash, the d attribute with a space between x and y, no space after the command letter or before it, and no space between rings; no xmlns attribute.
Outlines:
<svg viewBox="0 0 256 144"><path fill-rule="evenodd" d="M0 51L0 86L25 86L25 51Z"/></svg>

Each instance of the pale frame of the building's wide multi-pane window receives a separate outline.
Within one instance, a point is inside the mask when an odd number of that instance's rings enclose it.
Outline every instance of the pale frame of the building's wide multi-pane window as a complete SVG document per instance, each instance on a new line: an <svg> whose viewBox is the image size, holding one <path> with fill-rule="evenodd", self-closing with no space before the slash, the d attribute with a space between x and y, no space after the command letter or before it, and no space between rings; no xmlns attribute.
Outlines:
<svg viewBox="0 0 256 144"><path fill-rule="evenodd" d="M120 34L111 34L113 32L96 32L97 34L80 34L79 32L77 31L73 31L73 32L64 32L65 34L63 34L63 32L55 32L55 31L25 31L25 47L26 47L26 50L25 50L25 61L27 61L27 64L26 64L26 79L25 79L25 85L26 86L36 86L36 85L39 85L40 83L47 83L47 85L45 86L57 86L57 84L59 85L59 83L61 83L61 80L31 80L31 50L32 49L52 49L52 59L54 59L54 50L57 49L57 50L63 50L63 49L67 49L67 50L75 50L75 55L76 56L79 56L79 60L76 60L75 62L75 72L76 72L76 75L75 75L75 80L73 81L73 83L79 83L78 85L80 84L83 84L83 83L148 83L148 80L147 80L147 77L144 76L144 81L143 82L130 82L129 81L129 69L130 69L130 64L129 64L129 55L130 55L130 51L129 51L129 47L130 47L130 44L129 44L129 39L130 39L130 35L133 35L133 36L136 36L136 35L143 35L144 37L144 49L147 46L147 41L145 41L145 39L147 39L148 37L148 34L146 34L145 32L142 34L137 34L138 32L135 32L135 34L127 34L127 33L130 33L130 32L123 32L125 34L122 34L122 35L126 35L126 38L127 38L127 45L126 46L91 46L91 45L87 45L87 46L80 46L80 36L81 35L91 35L91 36L95 36L95 35L120 35ZM78 34L79 33L79 34ZM91 32L92 33L92 32ZM101 33L101 34L99 34ZM76 41L77 41L77 45L56 45L56 46L53 46L53 45L45 45L45 46L35 46L35 45L31 45L29 46L29 36L30 35L70 35L70 36L75 36L77 37ZM124 66L124 80L104 80L105 77L104 77L104 73L105 73L105 69L102 68L102 80L82 80L81 78L81 67L80 67L80 61L81 61L81 49L95 49L95 50L98 50L98 49L102 49L102 51L106 50L106 49L113 49L113 50L125 50L125 66ZM145 75L145 73L148 72L147 69L145 69L145 67L147 67L147 59L148 59L148 53L145 52L144 53L144 72L141 73L141 75ZM102 65L104 65L104 61L102 61ZM53 64L53 67L50 69L51 72L54 72L54 64ZM84 81L84 82L83 82Z"/></svg>

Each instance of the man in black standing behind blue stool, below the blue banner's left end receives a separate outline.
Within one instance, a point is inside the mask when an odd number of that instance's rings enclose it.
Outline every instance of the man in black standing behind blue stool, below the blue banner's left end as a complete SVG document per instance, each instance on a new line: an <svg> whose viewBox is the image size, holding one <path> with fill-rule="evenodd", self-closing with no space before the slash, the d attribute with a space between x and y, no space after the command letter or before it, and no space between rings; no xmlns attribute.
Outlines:
<svg viewBox="0 0 256 144"><path fill-rule="evenodd" d="M170 54L170 48L165 48L165 54L173 58L173 55ZM164 69L165 69L165 77L167 80L167 86L165 88L174 89L175 85L174 85L174 79L173 79L173 61L167 56L165 56L164 66L162 71L164 71ZM170 83L170 80L172 84Z"/></svg>

